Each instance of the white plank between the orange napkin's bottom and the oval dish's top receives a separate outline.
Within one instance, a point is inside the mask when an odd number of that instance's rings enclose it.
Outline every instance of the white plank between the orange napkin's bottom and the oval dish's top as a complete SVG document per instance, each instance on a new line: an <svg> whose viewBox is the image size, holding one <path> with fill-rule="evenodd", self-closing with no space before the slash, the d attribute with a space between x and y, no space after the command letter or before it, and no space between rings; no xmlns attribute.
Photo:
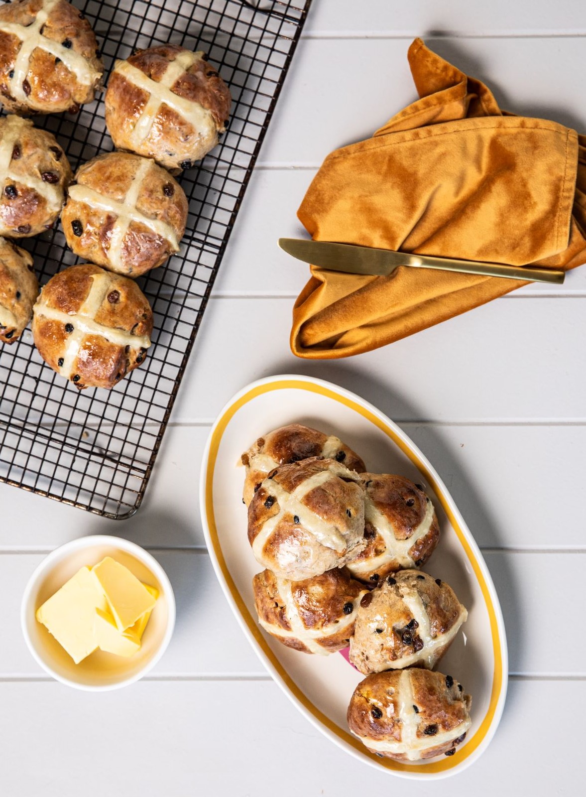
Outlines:
<svg viewBox="0 0 586 797"><path fill-rule="evenodd" d="M392 346L323 361L291 354L289 299L217 299L210 309L174 420L212 421L244 384L278 373L329 379L397 421L586 418L584 371L573 345L586 336L581 297L494 301ZM536 374L536 361L546 378Z"/></svg>

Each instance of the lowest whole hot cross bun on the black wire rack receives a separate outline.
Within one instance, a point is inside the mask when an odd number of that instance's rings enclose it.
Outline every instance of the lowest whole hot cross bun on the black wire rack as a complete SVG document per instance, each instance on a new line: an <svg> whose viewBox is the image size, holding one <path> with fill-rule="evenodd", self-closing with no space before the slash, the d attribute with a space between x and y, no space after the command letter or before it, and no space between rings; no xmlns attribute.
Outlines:
<svg viewBox="0 0 586 797"><path fill-rule="evenodd" d="M132 280L96 265L52 277L34 306L39 354L76 387L114 387L150 347L153 314Z"/></svg>

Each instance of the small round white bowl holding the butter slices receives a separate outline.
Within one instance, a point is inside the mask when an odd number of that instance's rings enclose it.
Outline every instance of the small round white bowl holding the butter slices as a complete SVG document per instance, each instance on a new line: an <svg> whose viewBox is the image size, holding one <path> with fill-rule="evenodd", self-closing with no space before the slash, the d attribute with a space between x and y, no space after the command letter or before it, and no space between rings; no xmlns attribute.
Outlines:
<svg viewBox="0 0 586 797"><path fill-rule="evenodd" d="M38 607L57 592L80 567L91 567L111 556L134 575L153 587L159 596L143 634L143 643L134 656L123 658L96 650L80 664L37 621ZM135 543L111 536L80 537L62 545L43 559L26 585L21 604L21 626L33 658L57 681L100 692L119 689L142 678L165 653L175 625L173 587L161 565Z"/></svg>

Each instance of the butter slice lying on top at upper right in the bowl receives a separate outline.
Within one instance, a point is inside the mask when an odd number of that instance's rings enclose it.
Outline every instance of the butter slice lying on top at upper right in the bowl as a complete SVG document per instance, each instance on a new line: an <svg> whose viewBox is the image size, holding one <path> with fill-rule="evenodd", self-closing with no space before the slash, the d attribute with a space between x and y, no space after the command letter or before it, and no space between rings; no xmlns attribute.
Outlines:
<svg viewBox="0 0 586 797"><path fill-rule="evenodd" d="M119 631L125 631L154 607L155 599L139 579L111 556L92 567L92 575L107 600Z"/></svg>

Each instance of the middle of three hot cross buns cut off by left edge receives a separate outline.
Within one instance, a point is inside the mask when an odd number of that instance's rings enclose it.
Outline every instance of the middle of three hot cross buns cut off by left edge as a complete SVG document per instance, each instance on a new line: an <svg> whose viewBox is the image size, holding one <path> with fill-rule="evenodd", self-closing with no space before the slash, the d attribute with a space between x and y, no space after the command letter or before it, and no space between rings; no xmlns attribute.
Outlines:
<svg viewBox="0 0 586 797"><path fill-rule="evenodd" d="M20 116L0 119L0 235L26 238L53 226L71 181L55 137Z"/></svg>

